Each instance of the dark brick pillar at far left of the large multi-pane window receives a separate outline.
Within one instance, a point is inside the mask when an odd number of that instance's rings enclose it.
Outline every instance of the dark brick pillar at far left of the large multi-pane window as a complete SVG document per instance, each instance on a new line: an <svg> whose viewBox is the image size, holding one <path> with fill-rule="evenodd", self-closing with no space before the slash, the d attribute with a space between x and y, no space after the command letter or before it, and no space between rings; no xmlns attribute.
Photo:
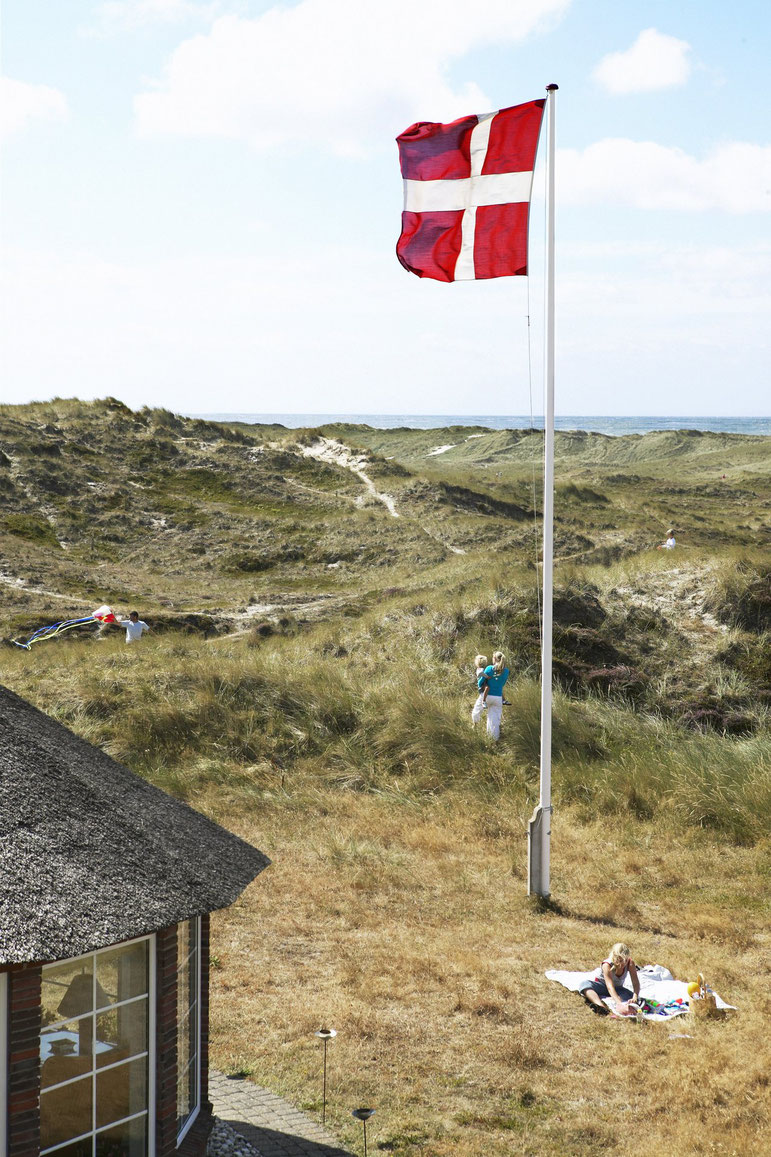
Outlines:
<svg viewBox="0 0 771 1157"><path fill-rule="evenodd" d="M39 965L8 972L8 1157L41 1150Z"/></svg>

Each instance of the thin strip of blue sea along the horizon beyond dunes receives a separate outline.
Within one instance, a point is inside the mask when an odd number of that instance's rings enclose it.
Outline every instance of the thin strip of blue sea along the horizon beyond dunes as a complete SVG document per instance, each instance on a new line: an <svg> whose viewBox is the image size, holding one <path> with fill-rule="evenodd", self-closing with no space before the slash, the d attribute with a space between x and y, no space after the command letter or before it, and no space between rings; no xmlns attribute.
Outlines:
<svg viewBox="0 0 771 1157"><path fill-rule="evenodd" d="M531 425L543 429L543 418L529 415L490 414L191 414L191 418L207 418L216 422L249 422L250 425L279 425L289 429L303 426L326 426L330 422L351 422L357 426L373 426L375 429L439 429L445 426L485 426L489 429L528 429ZM558 430L590 430L595 434L649 434L652 430L708 430L715 434L764 434L771 435L771 418L604 418L557 415Z"/></svg>

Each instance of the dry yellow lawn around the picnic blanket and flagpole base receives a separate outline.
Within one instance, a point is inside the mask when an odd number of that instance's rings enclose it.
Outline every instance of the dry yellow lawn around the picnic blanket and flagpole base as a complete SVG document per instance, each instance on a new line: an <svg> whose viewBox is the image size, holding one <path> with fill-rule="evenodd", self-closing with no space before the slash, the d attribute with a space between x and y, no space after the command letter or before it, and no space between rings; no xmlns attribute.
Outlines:
<svg viewBox="0 0 771 1157"><path fill-rule="evenodd" d="M566 810L538 913L524 819L324 789L232 817L273 865L214 919L213 1063L320 1111L314 1032L337 1029L328 1122L354 1151L372 1104L370 1151L405 1157L768 1152L770 848ZM638 1027L544 978L616 939L740 1011Z"/></svg>

